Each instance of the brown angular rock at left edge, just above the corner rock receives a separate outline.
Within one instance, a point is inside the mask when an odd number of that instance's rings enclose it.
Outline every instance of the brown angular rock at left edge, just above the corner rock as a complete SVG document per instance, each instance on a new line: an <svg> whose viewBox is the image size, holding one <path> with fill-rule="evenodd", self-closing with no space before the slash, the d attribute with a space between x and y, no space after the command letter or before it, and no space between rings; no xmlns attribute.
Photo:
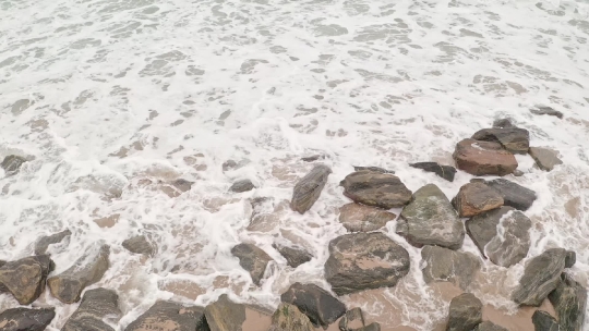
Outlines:
<svg viewBox="0 0 589 331"><path fill-rule="evenodd" d="M31 256L10 261L0 268L0 284L21 305L35 302L45 290L45 282L56 265L48 255Z"/></svg>

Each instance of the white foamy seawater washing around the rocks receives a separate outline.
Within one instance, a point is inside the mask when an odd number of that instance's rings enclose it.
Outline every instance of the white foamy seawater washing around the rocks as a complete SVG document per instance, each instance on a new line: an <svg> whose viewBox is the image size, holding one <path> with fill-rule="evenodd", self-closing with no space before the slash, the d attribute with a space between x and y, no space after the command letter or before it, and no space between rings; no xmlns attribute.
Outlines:
<svg viewBox="0 0 589 331"><path fill-rule="evenodd" d="M72 231L49 249L59 273L99 243L119 330L156 299L206 305L223 293L275 308L291 283L324 281L327 244L344 234L338 186L352 166L396 171L411 189L454 183L408 162L453 164L455 144L512 117L532 146L560 151L552 172L517 156L538 193L528 257L577 252L570 270L589 285L589 3L586 1L153 1L0 2L0 158L29 159L0 174L0 259L28 256L41 235ZM531 114L533 105L564 113ZM296 181L323 155L333 174L313 208L288 208ZM232 169L223 164L233 160ZM165 183L194 182L177 197ZM228 193L237 180L257 188ZM172 197L170 197L172 196ZM271 197L254 214L250 200ZM398 210L396 211L398 213ZM395 289L344 297L394 328L432 330L448 297L423 283L420 249ZM154 257L122 241L147 234ZM315 258L297 269L272 248L293 242ZM275 262L262 286L230 254L256 243ZM464 250L479 255L470 238ZM473 284L489 306L515 314L522 272L484 262ZM76 305L46 291L59 330ZM0 295L0 309L15 307ZM393 308L390 308L393 307ZM521 329L524 330L524 329Z"/></svg>

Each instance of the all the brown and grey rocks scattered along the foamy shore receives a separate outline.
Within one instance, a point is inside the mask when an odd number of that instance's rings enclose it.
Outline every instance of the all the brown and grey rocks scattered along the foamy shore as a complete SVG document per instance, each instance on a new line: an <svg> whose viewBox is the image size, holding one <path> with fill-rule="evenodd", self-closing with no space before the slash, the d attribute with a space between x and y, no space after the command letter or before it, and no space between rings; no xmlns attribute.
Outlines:
<svg viewBox="0 0 589 331"><path fill-rule="evenodd" d="M530 146L529 132L503 119L495 121L493 127L457 143L453 155L456 168L430 161L410 167L416 171L433 172L449 182L454 181L457 171L474 176L521 175L517 170L516 154L529 154L544 171L563 163L556 151ZM317 161L317 164L293 187L290 208L298 213L304 214L320 199L332 173L320 159L303 159L305 162ZM9 156L1 167L12 175L25 162L24 158ZM528 257L532 221L525 211L537 199L536 193L506 179L476 177L449 199L433 183L411 192L394 171L370 166L354 170L340 182L344 196L351 203L339 209L339 222L348 233L334 238L327 247L329 256L324 271L330 287L291 284L281 294L281 304L274 314L260 312L255 307L221 295L206 307L157 302L135 321L119 326L118 294L103 287L85 291L99 282L108 270L108 245L94 247L73 261L69 269L53 274L56 266L47 248L67 241L72 234L68 229L38 238L34 244L34 256L0 261L0 293L8 292L19 304L27 306L48 286L51 296L61 303L80 303L62 327L64 331L248 331L251 311L267 316L269 326L266 330L272 331L311 331L334 326L341 331L376 331L381 330L377 322L365 319L358 307L346 307L338 296L394 287L408 275L409 253L380 231L387 222L397 220L396 233L410 245L421 248L424 282L449 282L467 292L452 299L445 330L507 330L489 320L483 321L483 304L468 293L469 284L477 272L483 272L482 259L512 268ZM184 182L175 182L171 186L182 192L190 189L190 183ZM241 193L253 188L252 182L243 180L236 182L230 191ZM402 208L398 217L389 211L393 208ZM479 249L479 256L460 250L467 235ZM122 247L146 257L156 254L145 235L128 238ZM292 268L313 258L312 253L293 243L275 243L274 248ZM264 283L267 266L273 260L266 252L252 243L240 243L231 248L231 254L250 273L255 285ZM539 307L548 299L556 312L553 316L537 310L531 318L536 330L582 331L587 289L566 271L575 262L575 252L564 248L550 248L527 260L512 299L520 306L531 307ZM55 316L51 308L11 308L0 312L0 330L45 330Z"/></svg>

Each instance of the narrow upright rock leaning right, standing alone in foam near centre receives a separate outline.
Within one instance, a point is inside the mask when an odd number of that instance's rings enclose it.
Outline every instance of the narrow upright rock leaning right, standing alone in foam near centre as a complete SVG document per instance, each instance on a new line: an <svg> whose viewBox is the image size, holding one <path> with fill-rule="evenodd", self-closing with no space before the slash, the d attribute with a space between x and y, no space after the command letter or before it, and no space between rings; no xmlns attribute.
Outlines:
<svg viewBox="0 0 589 331"><path fill-rule="evenodd" d="M329 173L332 173L329 167L324 164L315 166L310 173L294 185L290 208L299 213L304 213L311 209L318 199L323 187L325 187Z"/></svg>

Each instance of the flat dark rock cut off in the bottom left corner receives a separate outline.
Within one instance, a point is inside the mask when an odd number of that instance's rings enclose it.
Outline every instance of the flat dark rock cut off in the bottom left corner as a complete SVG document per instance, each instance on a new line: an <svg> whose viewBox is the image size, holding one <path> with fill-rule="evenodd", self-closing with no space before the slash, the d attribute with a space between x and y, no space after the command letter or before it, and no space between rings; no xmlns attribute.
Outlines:
<svg viewBox="0 0 589 331"><path fill-rule="evenodd" d="M2 331L44 331L56 317L53 308L12 308L0 314Z"/></svg>

